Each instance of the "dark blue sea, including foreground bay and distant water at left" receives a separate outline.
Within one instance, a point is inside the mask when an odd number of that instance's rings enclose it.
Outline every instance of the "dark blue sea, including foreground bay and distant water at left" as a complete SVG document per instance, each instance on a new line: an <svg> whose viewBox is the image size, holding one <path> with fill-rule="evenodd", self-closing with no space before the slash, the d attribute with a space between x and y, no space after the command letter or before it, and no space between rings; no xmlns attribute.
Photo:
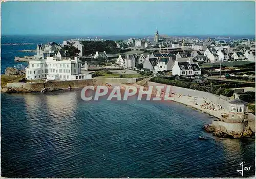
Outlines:
<svg viewBox="0 0 256 179"><path fill-rule="evenodd" d="M26 54L17 50L48 41L61 39L2 37L2 71ZM207 114L173 101L83 101L80 91L1 93L1 176L242 177L242 166L254 176L254 139L205 133Z"/></svg>

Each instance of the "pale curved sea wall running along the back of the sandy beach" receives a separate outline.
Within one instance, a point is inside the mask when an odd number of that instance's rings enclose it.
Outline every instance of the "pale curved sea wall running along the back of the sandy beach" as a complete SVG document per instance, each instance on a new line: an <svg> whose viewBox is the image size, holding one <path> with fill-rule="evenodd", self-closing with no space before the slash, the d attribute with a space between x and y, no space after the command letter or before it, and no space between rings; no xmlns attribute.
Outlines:
<svg viewBox="0 0 256 179"><path fill-rule="evenodd" d="M148 82L148 86L170 86L155 82ZM188 88L181 88L177 86L171 86L171 92L178 93L178 94L189 94L191 96L196 96L198 98L208 98L215 104L221 104L224 109L229 109L229 103L227 100L223 99L221 96L218 96L216 94L204 92L204 91L198 91Z"/></svg>

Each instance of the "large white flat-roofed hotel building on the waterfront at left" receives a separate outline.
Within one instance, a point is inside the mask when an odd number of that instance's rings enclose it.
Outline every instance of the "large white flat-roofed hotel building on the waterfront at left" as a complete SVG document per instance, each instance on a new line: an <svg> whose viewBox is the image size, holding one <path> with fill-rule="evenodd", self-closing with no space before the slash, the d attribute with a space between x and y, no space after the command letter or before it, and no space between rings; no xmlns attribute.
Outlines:
<svg viewBox="0 0 256 179"><path fill-rule="evenodd" d="M29 61L26 78L69 81L91 79L92 75L81 74L81 61L77 57L74 60L47 57L46 60Z"/></svg>

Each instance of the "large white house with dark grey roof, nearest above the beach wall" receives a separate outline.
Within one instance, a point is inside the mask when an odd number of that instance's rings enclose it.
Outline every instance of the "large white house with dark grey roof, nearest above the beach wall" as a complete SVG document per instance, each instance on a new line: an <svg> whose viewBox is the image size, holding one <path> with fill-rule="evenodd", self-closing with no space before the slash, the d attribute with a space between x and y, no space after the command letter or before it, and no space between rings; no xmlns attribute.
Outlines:
<svg viewBox="0 0 256 179"><path fill-rule="evenodd" d="M186 61L185 61L186 60ZM173 75L184 75L193 76L200 75L201 68L197 63L195 63L191 58L188 59L177 59L172 67Z"/></svg>

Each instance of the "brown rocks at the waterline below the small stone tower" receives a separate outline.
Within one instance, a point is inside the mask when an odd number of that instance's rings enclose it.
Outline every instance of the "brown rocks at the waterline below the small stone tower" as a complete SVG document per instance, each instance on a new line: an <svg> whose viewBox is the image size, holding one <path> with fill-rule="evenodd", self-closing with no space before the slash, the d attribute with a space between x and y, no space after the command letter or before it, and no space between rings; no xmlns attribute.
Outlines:
<svg viewBox="0 0 256 179"><path fill-rule="evenodd" d="M203 129L205 132L212 133L213 136L222 137L222 138L233 138L233 139L253 138L255 135L250 127L240 134L235 133L233 131L227 132L227 130L224 128L225 127L215 127L212 124L207 124L203 126Z"/></svg>

